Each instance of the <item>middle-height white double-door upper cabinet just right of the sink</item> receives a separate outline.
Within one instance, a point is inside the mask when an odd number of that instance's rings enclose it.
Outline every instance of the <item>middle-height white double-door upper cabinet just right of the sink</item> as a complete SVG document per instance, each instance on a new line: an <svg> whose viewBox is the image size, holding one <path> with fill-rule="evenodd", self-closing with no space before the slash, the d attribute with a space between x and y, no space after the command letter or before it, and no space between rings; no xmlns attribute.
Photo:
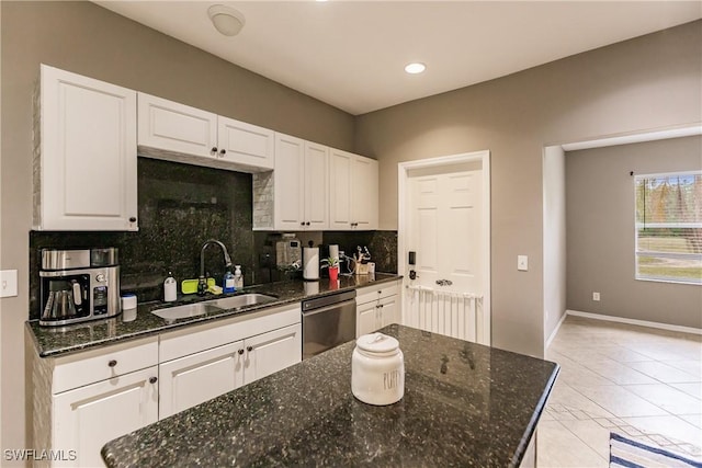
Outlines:
<svg viewBox="0 0 702 468"><path fill-rule="evenodd" d="M328 229L329 150L275 134L273 172L253 175L253 229Z"/></svg>

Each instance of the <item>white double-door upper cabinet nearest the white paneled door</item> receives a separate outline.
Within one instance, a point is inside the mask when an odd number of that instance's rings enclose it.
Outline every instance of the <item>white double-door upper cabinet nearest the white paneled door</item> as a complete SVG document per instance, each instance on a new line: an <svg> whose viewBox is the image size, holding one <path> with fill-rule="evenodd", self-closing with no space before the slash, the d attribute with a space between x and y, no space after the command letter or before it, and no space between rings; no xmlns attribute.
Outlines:
<svg viewBox="0 0 702 468"><path fill-rule="evenodd" d="M328 179L329 229L377 229L377 161L332 148Z"/></svg>

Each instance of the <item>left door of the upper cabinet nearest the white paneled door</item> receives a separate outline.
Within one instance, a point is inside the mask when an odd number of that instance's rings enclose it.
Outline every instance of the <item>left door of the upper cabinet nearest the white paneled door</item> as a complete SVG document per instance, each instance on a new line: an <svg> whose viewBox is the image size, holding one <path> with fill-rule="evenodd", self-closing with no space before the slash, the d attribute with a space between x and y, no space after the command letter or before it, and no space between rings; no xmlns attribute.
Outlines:
<svg viewBox="0 0 702 468"><path fill-rule="evenodd" d="M351 161L353 155L329 150L329 228L351 229Z"/></svg>

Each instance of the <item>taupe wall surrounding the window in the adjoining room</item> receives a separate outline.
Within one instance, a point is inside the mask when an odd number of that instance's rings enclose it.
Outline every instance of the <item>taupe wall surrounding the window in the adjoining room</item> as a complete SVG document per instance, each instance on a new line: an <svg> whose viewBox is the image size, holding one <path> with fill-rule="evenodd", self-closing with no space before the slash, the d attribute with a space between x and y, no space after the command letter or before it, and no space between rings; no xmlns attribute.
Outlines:
<svg viewBox="0 0 702 468"><path fill-rule="evenodd" d="M702 137L566 153L568 309L702 328L701 286L634 279L630 175L700 169Z"/></svg>

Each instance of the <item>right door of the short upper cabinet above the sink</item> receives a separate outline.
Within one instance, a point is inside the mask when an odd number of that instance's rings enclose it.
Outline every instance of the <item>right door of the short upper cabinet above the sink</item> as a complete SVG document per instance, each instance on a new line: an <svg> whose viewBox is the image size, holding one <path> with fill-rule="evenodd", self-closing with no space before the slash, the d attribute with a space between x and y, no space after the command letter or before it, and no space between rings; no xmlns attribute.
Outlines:
<svg viewBox="0 0 702 468"><path fill-rule="evenodd" d="M223 161L244 165L251 171L273 169L275 133L268 128L219 116L217 140Z"/></svg>

